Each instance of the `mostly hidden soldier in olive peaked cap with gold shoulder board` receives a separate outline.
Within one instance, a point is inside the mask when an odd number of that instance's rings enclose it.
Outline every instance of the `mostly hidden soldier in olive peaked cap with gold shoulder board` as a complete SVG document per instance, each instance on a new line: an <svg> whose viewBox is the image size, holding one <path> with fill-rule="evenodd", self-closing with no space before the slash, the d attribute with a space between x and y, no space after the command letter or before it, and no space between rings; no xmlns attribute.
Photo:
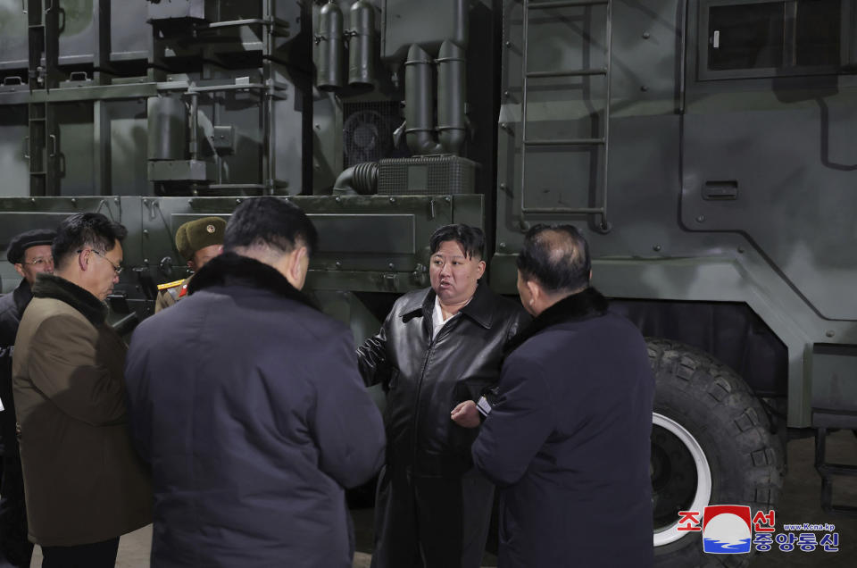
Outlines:
<svg viewBox="0 0 857 568"><path fill-rule="evenodd" d="M208 261L223 252L223 233L226 221L220 217L203 217L187 221L176 231L176 248L187 261L187 268L196 273ZM174 305L187 297L187 285L191 277L158 286L158 297L154 300L154 313Z"/></svg>

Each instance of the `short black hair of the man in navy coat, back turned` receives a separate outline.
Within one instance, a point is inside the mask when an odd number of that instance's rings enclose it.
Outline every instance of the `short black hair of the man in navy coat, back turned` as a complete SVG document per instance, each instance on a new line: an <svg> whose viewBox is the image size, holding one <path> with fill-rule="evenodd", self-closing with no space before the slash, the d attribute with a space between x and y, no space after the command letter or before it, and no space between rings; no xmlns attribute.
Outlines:
<svg viewBox="0 0 857 568"><path fill-rule="evenodd" d="M272 196L245 199L238 205L226 225L223 250L240 246L270 246L290 253L295 245L306 246L312 256L319 234L300 207Z"/></svg>

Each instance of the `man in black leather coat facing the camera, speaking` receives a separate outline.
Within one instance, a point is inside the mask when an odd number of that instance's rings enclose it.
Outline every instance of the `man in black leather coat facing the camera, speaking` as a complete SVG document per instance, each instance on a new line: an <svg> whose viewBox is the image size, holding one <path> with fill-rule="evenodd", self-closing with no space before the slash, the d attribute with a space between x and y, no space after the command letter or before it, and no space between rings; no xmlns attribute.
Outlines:
<svg viewBox="0 0 857 568"><path fill-rule="evenodd" d="M400 297L359 349L387 391L387 464L375 503L373 568L478 568L494 487L473 469L476 401L500 376L527 314L479 281L485 238L447 225L429 239L431 288Z"/></svg>

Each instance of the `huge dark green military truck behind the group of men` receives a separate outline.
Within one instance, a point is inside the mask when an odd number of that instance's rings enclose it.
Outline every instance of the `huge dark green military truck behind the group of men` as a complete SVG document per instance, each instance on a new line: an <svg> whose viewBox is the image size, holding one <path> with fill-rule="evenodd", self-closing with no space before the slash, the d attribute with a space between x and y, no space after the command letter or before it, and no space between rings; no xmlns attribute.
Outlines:
<svg viewBox="0 0 857 568"><path fill-rule="evenodd" d="M649 338L657 564L745 565L678 512L775 509L789 432L847 510L855 71L855 0L0 0L0 246L121 221L128 330L185 276L179 224L283 196L361 341L427 286L437 226L483 227L514 295L524 232L572 223Z"/></svg>

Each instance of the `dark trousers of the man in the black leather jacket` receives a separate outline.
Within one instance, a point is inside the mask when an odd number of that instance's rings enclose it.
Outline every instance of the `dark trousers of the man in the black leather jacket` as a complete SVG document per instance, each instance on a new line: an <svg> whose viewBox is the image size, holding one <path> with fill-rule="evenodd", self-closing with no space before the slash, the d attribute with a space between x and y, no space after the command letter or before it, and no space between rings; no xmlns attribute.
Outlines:
<svg viewBox="0 0 857 568"><path fill-rule="evenodd" d="M372 568L478 568L494 485L462 477L413 477L385 466L375 499Z"/></svg>

